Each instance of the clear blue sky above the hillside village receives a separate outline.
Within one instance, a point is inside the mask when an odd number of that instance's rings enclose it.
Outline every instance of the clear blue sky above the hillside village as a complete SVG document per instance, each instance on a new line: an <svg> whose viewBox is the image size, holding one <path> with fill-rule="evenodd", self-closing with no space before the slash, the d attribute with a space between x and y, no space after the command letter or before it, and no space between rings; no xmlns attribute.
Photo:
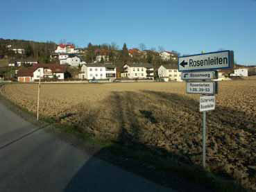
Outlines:
<svg viewBox="0 0 256 192"><path fill-rule="evenodd" d="M256 64L256 0L1 1L0 38L60 40L85 47L115 42L192 55L234 51Z"/></svg>

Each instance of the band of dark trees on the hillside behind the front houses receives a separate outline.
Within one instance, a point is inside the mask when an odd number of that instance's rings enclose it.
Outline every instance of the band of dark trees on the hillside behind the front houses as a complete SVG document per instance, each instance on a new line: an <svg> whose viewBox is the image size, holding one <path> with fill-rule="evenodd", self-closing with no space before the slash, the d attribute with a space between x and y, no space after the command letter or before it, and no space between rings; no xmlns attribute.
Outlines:
<svg viewBox="0 0 256 192"><path fill-rule="evenodd" d="M65 41L61 41L65 43ZM11 45L11 47L8 47ZM28 40L5 40L0 39L0 59L24 59L24 58L34 58L40 63L58 62L58 60L51 60L51 54L57 48L55 42L34 42ZM15 53L12 49L24 49L24 54ZM159 52L164 51L162 46L158 46L158 51L155 48L146 49L146 45L141 43L138 48L128 50L126 43L123 47L119 49L119 46L112 42L111 44L92 44L89 43L87 46L81 49L80 58L87 63L94 62L97 55L108 55L109 62L115 64L117 67L123 66L126 63L142 62L151 63L154 66L160 66L161 64L177 64L177 60L162 60L160 58ZM172 51L176 55L180 55L177 51ZM105 60L101 60L105 62Z"/></svg>

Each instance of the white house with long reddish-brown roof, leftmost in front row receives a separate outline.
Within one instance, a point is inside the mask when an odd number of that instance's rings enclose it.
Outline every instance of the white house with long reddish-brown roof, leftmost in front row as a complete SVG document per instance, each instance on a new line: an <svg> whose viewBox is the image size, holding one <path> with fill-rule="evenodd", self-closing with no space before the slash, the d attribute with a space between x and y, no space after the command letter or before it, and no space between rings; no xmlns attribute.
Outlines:
<svg viewBox="0 0 256 192"><path fill-rule="evenodd" d="M64 80L66 66L60 64L35 64L33 67L22 68L17 71L19 82L34 82L44 78Z"/></svg>

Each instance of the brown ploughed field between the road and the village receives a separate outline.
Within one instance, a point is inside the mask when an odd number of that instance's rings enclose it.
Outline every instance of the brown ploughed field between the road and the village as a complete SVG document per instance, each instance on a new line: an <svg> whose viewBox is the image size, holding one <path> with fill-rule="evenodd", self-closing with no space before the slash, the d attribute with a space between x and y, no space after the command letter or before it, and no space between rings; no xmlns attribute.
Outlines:
<svg viewBox="0 0 256 192"><path fill-rule="evenodd" d="M185 83L42 85L41 91L42 116L201 164L199 96L185 94ZM36 111L37 85L6 85L1 92ZM207 165L256 190L256 80L220 82L216 98L216 110L207 113Z"/></svg>

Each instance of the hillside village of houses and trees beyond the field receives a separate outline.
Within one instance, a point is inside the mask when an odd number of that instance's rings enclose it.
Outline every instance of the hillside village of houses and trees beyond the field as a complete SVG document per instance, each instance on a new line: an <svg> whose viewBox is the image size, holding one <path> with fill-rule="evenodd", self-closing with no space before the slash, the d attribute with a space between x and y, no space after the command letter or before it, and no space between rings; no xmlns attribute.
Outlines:
<svg viewBox="0 0 256 192"><path fill-rule="evenodd" d="M5 43L0 47L1 80L182 81L178 71L180 53L146 50L144 44L140 44L140 49L128 49L123 44L123 49L119 50L116 44L95 46L89 43L87 48L78 49L74 44L51 42L35 49L38 45L31 42L28 46L13 45L11 40ZM232 70L219 70L216 80L247 76L256 76L256 67L235 64Z"/></svg>

